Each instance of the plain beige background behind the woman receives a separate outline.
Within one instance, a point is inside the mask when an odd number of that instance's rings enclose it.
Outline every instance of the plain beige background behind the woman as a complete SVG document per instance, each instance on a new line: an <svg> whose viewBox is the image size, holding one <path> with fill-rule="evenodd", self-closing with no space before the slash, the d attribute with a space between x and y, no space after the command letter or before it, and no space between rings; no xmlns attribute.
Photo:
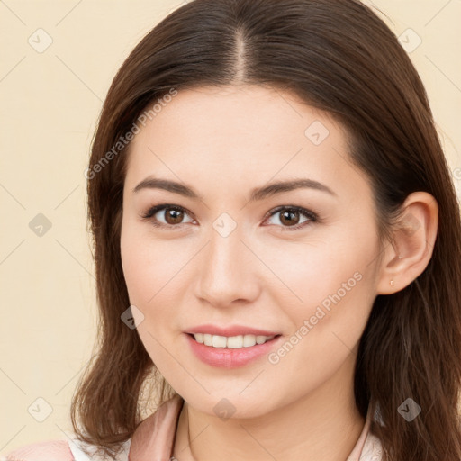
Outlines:
<svg viewBox="0 0 461 461"><path fill-rule="evenodd" d="M422 40L411 59L427 87L461 196L461 1L366 4L379 8L397 35L411 28L417 35L405 32L410 46ZM84 177L95 121L123 59L178 5L0 2L2 453L70 434L70 397L95 337ZM35 32L39 28L45 32ZM49 36L50 47L39 53ZM39 213L51 223L41 236L29 226Z"/></svg>

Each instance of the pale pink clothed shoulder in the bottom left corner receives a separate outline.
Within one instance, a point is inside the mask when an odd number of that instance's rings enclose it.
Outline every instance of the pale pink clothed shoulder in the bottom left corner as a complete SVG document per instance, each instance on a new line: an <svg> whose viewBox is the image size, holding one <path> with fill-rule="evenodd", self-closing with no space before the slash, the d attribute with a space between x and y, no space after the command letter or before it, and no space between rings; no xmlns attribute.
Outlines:
<svg viewBox="0 0 461 461"><path fill-rule="evenodd" d="M75 461L66 440L37 442L15 449L1 461Z"/></svg>

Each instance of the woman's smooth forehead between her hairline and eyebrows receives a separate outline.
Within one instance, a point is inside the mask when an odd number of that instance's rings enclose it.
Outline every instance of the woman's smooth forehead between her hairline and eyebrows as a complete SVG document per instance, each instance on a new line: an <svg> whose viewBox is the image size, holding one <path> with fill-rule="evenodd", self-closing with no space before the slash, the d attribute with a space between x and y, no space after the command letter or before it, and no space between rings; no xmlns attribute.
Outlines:
<svg viewBox="0 0 461 461"><path fill-rule="evenodd" d="M262 86L188 89L164 102L131 141L126 182L134 186L148 175L198 189L287 177L345 188L364 182L348 161L348 135L338 122Z"/></svg>

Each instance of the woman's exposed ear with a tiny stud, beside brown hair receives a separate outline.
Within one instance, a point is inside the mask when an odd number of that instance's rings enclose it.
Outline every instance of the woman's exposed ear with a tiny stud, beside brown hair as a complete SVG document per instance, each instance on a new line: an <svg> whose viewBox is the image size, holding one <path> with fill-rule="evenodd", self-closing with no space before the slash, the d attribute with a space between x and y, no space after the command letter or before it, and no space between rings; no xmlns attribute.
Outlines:
<svg viewBox="0 0 461 461"><path fill-rule="evenodd" d="M414 192L402 204L402 219L384 249L376 294L393 294L428 266L438 230L438 203L427 192ZM393 280L393 285L390 284Z"/></svg>

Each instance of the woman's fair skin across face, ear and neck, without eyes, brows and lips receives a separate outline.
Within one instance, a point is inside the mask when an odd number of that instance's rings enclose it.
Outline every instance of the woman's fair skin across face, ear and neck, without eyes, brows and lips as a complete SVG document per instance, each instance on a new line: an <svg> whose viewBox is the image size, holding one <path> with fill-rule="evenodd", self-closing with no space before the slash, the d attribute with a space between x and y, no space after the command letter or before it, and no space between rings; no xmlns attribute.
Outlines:
<svg viewBox="0 0 461 461"><path fill-rule="evenodd" d="M329 131L319 145L304 134L314 121ZM191 185L203 200L134 193L149 175ZM304 188L249 203L254 187L294 178L336 195ZM158 228L154 217L141 218L160 203L185 208L183 221ZM321 221L294 215L307 224L290 230L283 212L267 217L279 205L303 207ZM411 194L403 208L418 229L396 230L380 248L370 183L348 161L348 133L286 92L184 90L142 128L124 186L122 267L131 304L144 315L140 339L185 399L178 460L346 460L365 423L353 376L375 296L420 275L437 233L431 195ZM155 217L167 226L166 211ZM227 237L212 226L223 212L237 224ZM209 366L186 341L185 330L214 323L278 331L284 343L357 273L360 280L276 364L260 357L234 369ZM213 411L224 397L235 408L225 420Z"/></svg>

